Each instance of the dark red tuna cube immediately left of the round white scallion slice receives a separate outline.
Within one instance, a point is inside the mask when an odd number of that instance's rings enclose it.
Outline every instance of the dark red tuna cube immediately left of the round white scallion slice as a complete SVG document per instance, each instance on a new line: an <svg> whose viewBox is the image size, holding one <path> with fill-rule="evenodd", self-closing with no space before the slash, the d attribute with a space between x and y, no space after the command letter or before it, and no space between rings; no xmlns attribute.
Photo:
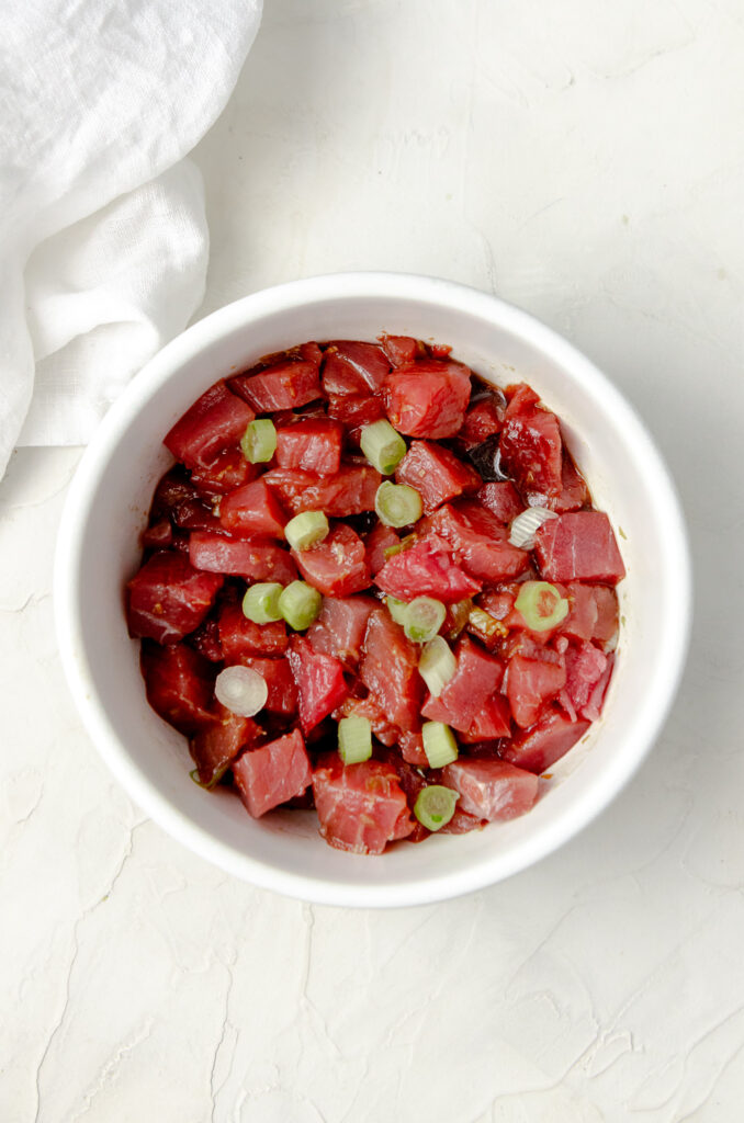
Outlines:
<svg viewBox="0 0 744 1123"><path fill-rule="evenodd" d="M209 663L185 643L145 642L139 659L147 701L180 733L191 737L215 721L215 675Z"/></svg>

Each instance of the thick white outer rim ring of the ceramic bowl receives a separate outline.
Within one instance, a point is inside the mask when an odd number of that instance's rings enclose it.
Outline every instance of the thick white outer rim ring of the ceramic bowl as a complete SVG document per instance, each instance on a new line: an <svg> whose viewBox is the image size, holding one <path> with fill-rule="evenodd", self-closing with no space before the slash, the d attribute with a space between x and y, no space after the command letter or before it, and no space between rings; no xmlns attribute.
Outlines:
<svg viewBox="0 0 744 1123"><path fill-rule="evenodd" d="M639 458L651 467L657 499L663 502L665 540L678 562L672 579L679 612L666 621L665 660L656 686L656 700L643 736L602 773L601 785L590 785L569 809L541 831L507 853L497 853L472 867L443 874L426 882L394 885L334 880L301 876L280 869L245 852L237 852L181 813L138 769L126 746L98 703L85 660L80 612L75 596L75 573L87 519L97 482L109 456L128 426L149 398L194 355L252 320L260 320L290 307L351 299L400 299L446 304L477 318L490 320L529 346L570 368L582 383L591 381L600 391L619 426L626 427L639 449ZM290 281L243 296L211 312L176 336L155 354L133 377L114 402L85 449L64 504L54 559L54 611L57 645L70 691L93 745L128 795L160 827L200 857L227 873L261 888L317 904L362 907L396 907L430 904L463 895L510 877L560 849L593 819L625 787L659 737L669 715L687 659L692 618L692 569L682 506L669 469L645 423L617 387L587 356L563 336L530 313L460 282L410 273L329 273ZM362 859L365 860L365 859ZM350 875L353 867L350 866Z"/></svg>

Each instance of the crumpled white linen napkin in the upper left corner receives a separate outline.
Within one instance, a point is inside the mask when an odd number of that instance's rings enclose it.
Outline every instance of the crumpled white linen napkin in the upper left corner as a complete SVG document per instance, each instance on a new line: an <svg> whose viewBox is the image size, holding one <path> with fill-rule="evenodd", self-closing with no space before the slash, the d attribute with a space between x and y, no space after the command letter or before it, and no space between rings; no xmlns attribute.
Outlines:
<svg viewBox="0 0 744 1123"><path fill-rule="evenodd" d="M4 0L0 476L17 442L84 444L199 307L209 238L184 157L223 110L261 7Z"/></svg>

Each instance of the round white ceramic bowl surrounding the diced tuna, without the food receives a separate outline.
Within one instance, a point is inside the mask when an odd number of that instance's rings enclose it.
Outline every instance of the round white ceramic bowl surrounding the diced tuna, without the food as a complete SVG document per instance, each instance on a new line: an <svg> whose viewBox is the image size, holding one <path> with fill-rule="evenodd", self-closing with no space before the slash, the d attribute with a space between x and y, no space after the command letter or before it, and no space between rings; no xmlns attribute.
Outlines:
<svg viewBox="0 0 744 1123"><path fill-rule="evenodd" d="M221 375L306 339L381 331L451 344L486 378L524 378L562 420L595 503L619 532L627 578L605 711L552 769L521 819L400 844L379 858L333 850L314 812L254 821L227 792L189 778L187 746L149 709L123 590L154 485L161 440ZM493 296L429 277L355 273L246 296L194 325L136 376L107 414L70 490L55 601L60 649L85 727L129 795L166 831L230 874L336 905L410 905L490 885L555 850L615 796L648 751L682 670L691 615L684 526L673 485L637 416L607 378L543 323Z"/></svg>

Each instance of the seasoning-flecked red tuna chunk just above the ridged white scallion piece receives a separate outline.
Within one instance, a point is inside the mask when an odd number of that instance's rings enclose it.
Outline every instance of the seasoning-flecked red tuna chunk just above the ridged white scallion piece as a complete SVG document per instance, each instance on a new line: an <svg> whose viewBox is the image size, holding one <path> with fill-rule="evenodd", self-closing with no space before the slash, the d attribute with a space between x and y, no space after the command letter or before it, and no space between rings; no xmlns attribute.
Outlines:
<svg viewBox="0 0 744 1123"><path fill-rule="evenodd" d="M512 400L514 401L514 400ZM501 464L524 494L561 494L562 441L559 420L550 410L528 407L516 416L507 410L501 431Z"/></svg>

